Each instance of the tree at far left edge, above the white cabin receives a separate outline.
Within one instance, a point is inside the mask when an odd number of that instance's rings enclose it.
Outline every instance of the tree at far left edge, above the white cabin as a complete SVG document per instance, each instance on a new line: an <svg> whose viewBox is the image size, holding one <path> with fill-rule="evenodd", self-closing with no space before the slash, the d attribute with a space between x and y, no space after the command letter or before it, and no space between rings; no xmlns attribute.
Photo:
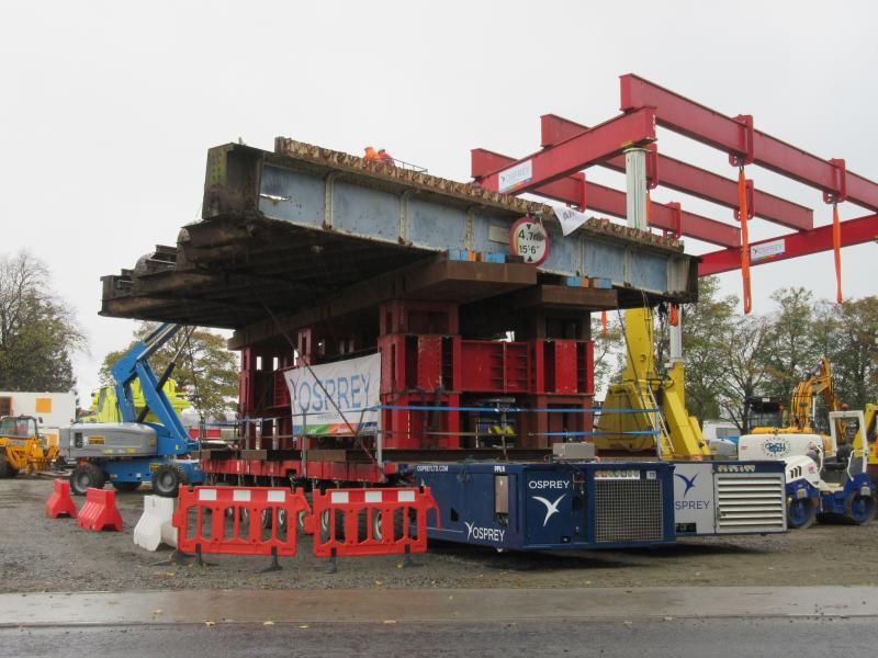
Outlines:
<svg viewBox="0 0 878 658"><path fill-rule="evenodd" d="M0 256L0 389L74 390L71 358L85 347L46 264L27 251Z"/></svg>

